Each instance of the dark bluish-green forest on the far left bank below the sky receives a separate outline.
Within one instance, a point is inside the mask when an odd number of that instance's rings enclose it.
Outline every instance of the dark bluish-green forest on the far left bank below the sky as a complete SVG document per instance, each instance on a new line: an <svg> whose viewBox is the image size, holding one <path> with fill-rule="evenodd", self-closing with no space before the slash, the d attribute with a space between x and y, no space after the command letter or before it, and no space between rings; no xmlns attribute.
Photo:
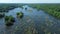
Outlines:
<svg viewBox="0 0 60 34"><path fill-rule="evenodd" d="M8 12L14 8L22 8L23 4L0 4L0 12Z"/></svg>

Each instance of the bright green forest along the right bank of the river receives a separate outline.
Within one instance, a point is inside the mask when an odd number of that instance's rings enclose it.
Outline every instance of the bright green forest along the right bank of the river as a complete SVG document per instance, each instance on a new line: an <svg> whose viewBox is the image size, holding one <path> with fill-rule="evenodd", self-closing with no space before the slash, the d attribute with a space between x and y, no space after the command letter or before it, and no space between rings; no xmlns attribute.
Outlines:
<svg viewBox="0 0 60 34"><path fill-rule="evenodd" d="M60 4L31 4L33 8L44 10L56 18L60 18Z"/></svg>

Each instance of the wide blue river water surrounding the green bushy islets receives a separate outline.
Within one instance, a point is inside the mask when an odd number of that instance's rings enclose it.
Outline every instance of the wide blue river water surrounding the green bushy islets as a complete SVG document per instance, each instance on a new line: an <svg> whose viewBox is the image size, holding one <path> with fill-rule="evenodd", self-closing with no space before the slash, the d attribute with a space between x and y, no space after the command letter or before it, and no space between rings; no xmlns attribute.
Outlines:
<svg viewBox="0 0 60 34"><path fill-rule="evenodd" d="M19 19L16 13L22 11L24 17ZM60 20L46 14L42 10L37 11L31 7L15 8L5 15L12 15L16 22L13 26L6 27L4 18L0 19L0 34L60 34Z"/></svg>

